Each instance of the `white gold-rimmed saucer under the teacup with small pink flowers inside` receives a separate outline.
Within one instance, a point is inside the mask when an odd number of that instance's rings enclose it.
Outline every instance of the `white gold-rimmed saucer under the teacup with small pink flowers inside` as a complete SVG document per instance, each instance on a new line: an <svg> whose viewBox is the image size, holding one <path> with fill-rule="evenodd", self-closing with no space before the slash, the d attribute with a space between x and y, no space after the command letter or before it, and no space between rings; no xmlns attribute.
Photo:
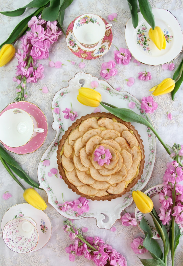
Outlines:
<svg viewBox="0 0 183 266"><path fill-rule="evenodd" d="M29 221L33 220L32 222L38 230L38 244L31 252L39 250L48 243L51 237L52 227L51 222L44 211L38 210L28 203L14 205L3 215L1 221L1 230L3 230L7 222L15 218L29 218Z"/></svg>

